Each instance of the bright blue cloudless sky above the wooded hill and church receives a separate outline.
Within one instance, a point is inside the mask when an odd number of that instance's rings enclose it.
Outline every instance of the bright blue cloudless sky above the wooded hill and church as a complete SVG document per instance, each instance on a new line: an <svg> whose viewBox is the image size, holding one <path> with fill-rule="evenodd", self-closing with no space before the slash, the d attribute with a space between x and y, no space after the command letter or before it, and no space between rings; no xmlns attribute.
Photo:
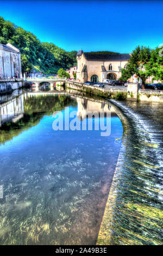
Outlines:
<svg viewBox="0 0 163 256"><path fill-rule="evenodd" d="M163 1L8 1L0 16L72 51L129 53L163 43Z"/></svg>

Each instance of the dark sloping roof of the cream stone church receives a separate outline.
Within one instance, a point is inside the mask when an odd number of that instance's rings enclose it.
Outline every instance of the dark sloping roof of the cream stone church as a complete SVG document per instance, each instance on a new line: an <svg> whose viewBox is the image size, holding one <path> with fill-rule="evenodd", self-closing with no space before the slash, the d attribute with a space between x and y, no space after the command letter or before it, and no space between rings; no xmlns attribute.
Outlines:
<svg viewBox="0 0 163 256"><path fill-rule="evenodd" d="M84 53L87 60L128 60L130 54L92 54Z"/></svg>

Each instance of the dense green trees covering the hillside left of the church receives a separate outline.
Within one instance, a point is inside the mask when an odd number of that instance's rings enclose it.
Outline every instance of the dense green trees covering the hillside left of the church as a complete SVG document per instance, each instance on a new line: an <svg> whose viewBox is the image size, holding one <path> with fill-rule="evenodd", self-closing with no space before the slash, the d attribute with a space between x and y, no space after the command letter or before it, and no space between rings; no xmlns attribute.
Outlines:
<svg viewBox="0 0 163 256"><path fill-rule="evenodd" d="M0 44L7 42L20 49L22 72L35 68L45 74L57 74L60 68L77 64L76 51L66 52L53 43L40 42L34 34L0 16Z"/></svg>

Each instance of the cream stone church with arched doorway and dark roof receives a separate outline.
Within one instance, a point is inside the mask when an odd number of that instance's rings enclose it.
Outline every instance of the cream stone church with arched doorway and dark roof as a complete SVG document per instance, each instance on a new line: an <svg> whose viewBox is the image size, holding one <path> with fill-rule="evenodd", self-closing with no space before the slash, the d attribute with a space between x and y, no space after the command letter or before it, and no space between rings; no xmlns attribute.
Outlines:
<svg viewBox="0 0 163 256"><path fill-rule="evenodd" d="M118 80L130 54L91 54L79 50L77 53L77 81L103 82Z"/></svg>

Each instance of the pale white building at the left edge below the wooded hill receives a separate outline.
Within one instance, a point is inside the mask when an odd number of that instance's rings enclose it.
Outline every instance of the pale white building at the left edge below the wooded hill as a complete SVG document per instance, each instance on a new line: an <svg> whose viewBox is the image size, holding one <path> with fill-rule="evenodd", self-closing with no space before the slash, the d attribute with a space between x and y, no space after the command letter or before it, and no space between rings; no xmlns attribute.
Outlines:
<svg viewBox="0 0 163 256"><path fill-rule="evenodd" d="M21 77L21 53L11 44L0 44L0 79Z"/></svg>

